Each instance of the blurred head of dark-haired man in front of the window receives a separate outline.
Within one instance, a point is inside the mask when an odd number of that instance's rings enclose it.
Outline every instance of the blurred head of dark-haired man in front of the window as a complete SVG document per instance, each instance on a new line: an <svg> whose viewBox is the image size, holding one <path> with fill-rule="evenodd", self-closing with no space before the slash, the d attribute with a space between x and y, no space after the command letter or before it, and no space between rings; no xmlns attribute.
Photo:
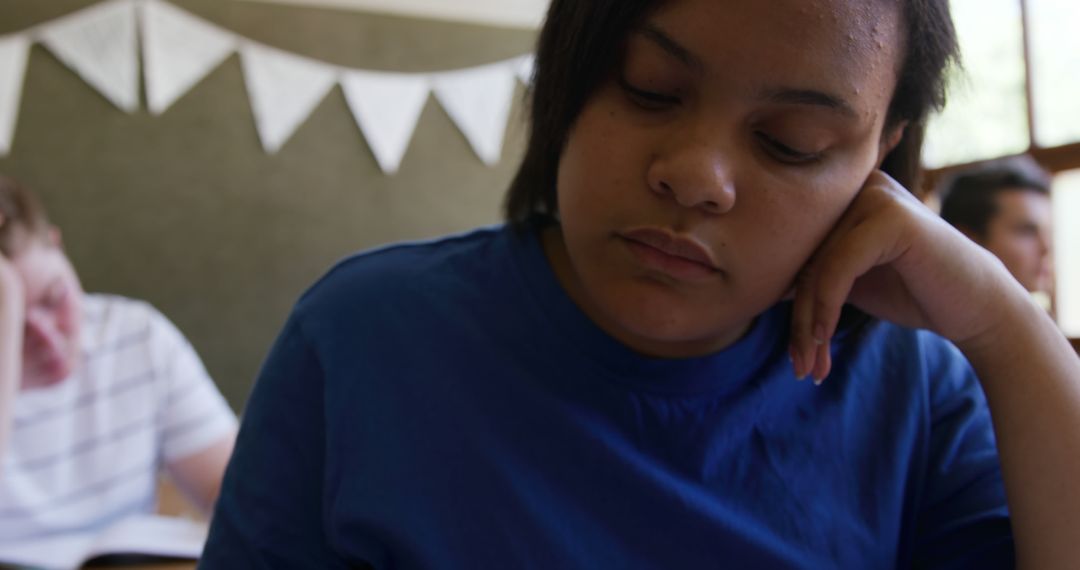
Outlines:
<svg viewBox="0 0 1080 570"><path fill-rule="evenodd" d="M996 255L1050 309L1053 235L1050 177L1029 157L956 174L942 189L942 217Z"/></svg>

